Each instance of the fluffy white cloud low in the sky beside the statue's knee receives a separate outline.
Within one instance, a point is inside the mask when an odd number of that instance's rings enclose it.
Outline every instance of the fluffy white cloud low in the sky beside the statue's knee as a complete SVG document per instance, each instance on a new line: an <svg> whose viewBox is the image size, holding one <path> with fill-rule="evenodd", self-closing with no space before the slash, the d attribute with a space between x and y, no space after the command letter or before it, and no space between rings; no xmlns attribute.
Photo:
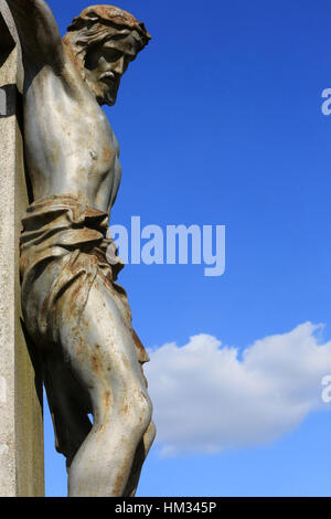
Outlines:
<svg viewBox="0 0 331 519"><path fill-rule="evenodd" d="M163 454L217 453L273 442L322 402L331 374L331 341L322 325L257 340L239 357L215 337L149 351L146 366Z"/></svg>

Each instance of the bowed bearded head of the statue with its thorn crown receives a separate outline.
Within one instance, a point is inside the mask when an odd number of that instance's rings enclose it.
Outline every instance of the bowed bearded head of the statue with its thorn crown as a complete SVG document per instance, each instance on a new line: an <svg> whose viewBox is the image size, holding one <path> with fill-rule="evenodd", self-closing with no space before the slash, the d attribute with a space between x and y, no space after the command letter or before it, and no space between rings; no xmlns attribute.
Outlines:
<svg viewBox="0 0 331 519"><path fill-rule="evenodd" d="M148 44L145 24L114 6L92 6L75 18L63 41L100 105L116 103L122 74Z"/></svg>

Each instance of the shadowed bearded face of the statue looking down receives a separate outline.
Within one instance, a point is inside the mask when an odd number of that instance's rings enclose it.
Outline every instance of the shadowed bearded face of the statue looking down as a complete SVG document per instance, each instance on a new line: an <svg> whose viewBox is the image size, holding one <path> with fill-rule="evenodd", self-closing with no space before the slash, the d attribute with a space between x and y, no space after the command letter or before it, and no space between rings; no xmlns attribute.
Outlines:
<svg viewBox="0 0 331 519"><path fill-rule="evenodd" d="M116 103L122 74L139 52L131 34L90 49L85 57L85 78L99 105Z"/></svg>

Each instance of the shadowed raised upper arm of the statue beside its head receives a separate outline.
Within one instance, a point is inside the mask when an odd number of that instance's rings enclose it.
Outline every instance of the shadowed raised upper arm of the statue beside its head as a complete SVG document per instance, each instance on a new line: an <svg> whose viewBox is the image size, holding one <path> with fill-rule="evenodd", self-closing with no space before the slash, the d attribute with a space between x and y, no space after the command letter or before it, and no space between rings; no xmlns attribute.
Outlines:
<svg viewBox="0 0 331 519"><path fill-rule="evenodd" d="M29 66L63 68L62 41L55 18L43 0L7 0Z"/></svg>

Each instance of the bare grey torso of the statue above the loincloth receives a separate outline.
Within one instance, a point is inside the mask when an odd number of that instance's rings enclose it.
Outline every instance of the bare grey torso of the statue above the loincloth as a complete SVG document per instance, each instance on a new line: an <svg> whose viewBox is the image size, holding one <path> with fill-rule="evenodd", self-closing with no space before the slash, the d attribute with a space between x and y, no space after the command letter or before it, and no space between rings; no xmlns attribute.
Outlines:
<svg viewBox="0 0 331 519"><path fill-rule="evenodd" d="M119 148L108 119L70 64L64 82L49 67L24 96L24 146L34 200L74 194L109 211L120 183Z"/></svg>

